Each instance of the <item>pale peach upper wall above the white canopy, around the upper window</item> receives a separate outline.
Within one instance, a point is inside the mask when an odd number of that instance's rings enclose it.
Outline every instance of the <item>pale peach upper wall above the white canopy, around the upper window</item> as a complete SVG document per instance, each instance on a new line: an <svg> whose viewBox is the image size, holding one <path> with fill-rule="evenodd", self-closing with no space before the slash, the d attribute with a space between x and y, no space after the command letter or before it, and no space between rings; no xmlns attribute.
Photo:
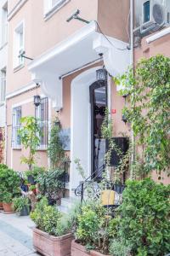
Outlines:
<svg viewBox="0 0 170 256"><path fill-rule="evenodd" d="M49 20L43 18L43 0L29 0L20 9L20 11L9 20L8 23L8 69L7 69L7 93L16 90L31 80L31 74L28 72L27 63L25 67L14 73L13 68L13 48L14 48L14 28L25 20L26 27L26 55L31 58L41 55L47 49L64 40L73 32L76 32L84 23L78 20L66 19L75 9L81 10L81 15L88 20L97 19L98 0L71 0L63 8L59 9ZM37 11L38 10L38 11Z"/></svg>

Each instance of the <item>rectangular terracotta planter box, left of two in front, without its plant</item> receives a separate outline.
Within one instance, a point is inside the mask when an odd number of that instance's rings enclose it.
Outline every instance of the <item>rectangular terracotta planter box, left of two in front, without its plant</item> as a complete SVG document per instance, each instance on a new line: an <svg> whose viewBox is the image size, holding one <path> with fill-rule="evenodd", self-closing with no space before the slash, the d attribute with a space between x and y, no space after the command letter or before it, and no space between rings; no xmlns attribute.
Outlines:
<svg viewBox="0 0 170 256"><path fill-rule="evenodd" d="M72 234L50 236L42 230L33 230L33 246L45 256L70 256L72 240Z"/></svg>

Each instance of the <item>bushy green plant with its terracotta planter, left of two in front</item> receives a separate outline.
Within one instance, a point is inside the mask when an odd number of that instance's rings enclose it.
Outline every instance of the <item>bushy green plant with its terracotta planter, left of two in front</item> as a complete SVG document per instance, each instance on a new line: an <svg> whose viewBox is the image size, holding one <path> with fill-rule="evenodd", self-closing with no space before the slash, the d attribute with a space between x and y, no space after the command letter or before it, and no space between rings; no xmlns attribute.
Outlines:
<svg viewBox="0 0 170 256"><path fill-rule="evenodd" d="M61 213L56 207L48 206L47 198L37 203L31 219L37 225L33 230L33 246L37 252L45 256L71 255L73 235L69 226L62 222Z"/></svg>

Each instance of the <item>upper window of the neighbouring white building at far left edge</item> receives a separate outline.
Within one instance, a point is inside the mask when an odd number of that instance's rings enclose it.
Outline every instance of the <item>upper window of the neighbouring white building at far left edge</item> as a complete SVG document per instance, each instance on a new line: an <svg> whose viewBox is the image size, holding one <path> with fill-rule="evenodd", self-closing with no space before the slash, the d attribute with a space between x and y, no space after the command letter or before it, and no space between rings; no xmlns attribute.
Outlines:
<svg viewBox="0 0 170 256"><path fill-rule="evenodd" d="M2 46L7 43L7 35L8 35L7 16L8 16L8 3L5 3L5 5L3 5L3 9L2 9L2 31L1 31L1 34L2 34L1 45Z"/></svg>

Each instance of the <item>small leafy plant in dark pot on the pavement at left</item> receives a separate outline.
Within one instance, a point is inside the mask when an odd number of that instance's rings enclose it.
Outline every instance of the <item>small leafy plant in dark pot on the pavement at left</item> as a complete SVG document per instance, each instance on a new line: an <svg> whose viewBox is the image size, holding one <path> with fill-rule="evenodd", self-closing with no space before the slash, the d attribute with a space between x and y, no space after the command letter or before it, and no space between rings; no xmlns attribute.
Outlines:
<svg viewBox="0 0 170 256"><path fill-rule="evenodd" d="M27 216L30 213L30 201L26 196L15 197L13 199L14 211L20 216Z"/></svg>

